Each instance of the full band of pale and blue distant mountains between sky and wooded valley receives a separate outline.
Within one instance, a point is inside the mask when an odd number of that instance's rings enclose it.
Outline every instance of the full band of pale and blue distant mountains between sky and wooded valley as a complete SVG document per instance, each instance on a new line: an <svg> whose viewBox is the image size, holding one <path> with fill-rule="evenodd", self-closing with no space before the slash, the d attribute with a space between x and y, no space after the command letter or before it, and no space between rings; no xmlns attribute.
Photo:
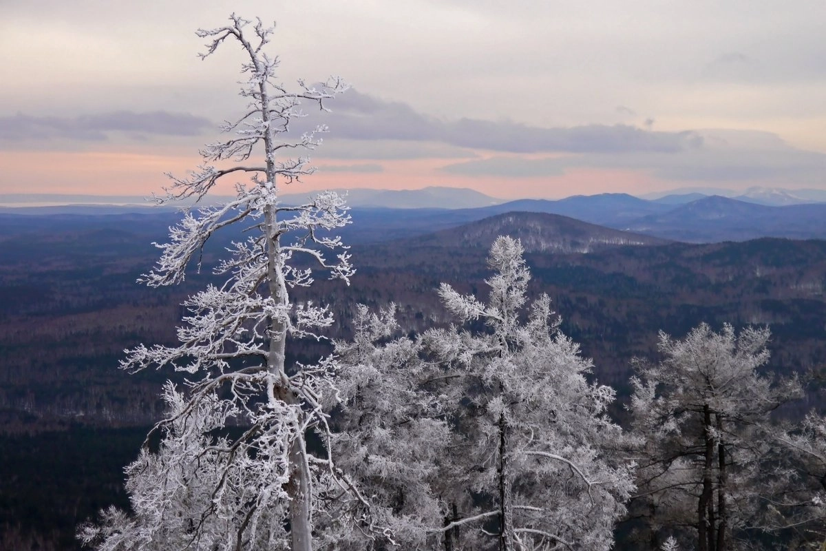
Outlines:
<svg viewBox="0 0 826 551"><path fill-rule="evenodd" d="M465 188L368 190L348 192L354 225L345 239L368 243L423 235L461 226L506 212L525 211L569 216L579 221L661 238L693 243L750 240L760 237L826 239L826 192L751 188L737 197L678 190L648 199L627 193L572 196L559 200L520 199L503 202ZM684 191L684 192L683 192ZM709 191L709 190L704 190ZM725 192L725 190L721 190ZM306 201L307 195L285 195L284 202ZM76 199L76 202L74 202ZM12 214L107 214L150 212L142 197L0 195L0 212ZM49 205L63 202L63 205ZM66 204L69 203L69 204ZM38 206L35 206L38 205ZM186 205L183 205L186 206ZM174 207L156 207L163 216ZM174 219L170 219L172 223Z"/></svg>

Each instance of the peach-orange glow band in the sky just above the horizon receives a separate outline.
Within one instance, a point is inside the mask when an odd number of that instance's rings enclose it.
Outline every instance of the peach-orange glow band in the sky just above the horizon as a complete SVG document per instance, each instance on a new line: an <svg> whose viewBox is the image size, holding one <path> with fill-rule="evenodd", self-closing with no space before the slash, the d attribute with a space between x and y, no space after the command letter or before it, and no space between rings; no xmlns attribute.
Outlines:
<svg viewBox="0 0 826 551"><path fill-rule="evenodd" d="M471 188L500 199L562 198L603 192L646 193L667 188L645 171L615 169L568 169L557 176L501 178L463 176L440 171L458 159L404 159L373 161L379 173L325 172L315 174L282 192L301 193L323 189L420 189L430 186ZM194 161L194 162L193 162ZM363 162L363 161L362 161ZM197 158L183 154L150 154L112 151L0 151L0 163L11 187L2 193L59 193L84 195L143 195L159 192L169 183L164 173L183 176ZM349 161L346 164L359 164ZM48 175L46 175L48 173ZM229 180L214 192L234 192ZM672 186L676 187L676 186Z"/></svg>

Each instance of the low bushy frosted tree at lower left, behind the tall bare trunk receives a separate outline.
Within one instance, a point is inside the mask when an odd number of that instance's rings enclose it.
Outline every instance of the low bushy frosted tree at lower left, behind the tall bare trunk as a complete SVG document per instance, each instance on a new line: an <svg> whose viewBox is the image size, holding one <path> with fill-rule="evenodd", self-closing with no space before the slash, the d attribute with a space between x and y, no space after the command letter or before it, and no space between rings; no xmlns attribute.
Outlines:
<svg viewBox="0 0 826 551"><path fill-rule="evenodd" d="M273 465L254 458L231 458L222 451L232 446L231 440L216 435L225 429L228 420L239 415L236 404L215 395L189 403L169 382L164 387L164 401L170 422L163 425L159 449L142 449L126 468L131 513L110 507L102 511L100 525L81 527L80 538L97 542L101 551L235 549L239 538L249 538L239 534L244 532L249 511L237 504L255 500L261 502L263 513L256 521L268 527L249 530L254 541L248 541L245 547L273 547L268 539L283 537L278 518L278 500L283 496L269 496L273 502L262 500L256 495L258 488L248 481L251 471L270 469L269 474L278 473L273 472ZM267 476L257 474L262 475ZM217 511L223 512L213 514Z"/></svg>

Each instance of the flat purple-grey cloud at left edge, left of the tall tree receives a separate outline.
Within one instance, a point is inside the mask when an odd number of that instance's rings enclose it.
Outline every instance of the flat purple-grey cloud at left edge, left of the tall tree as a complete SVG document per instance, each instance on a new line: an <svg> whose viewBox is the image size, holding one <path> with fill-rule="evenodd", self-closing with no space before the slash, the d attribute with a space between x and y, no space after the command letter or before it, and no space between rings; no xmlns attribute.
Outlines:
<svg viewBox="0 0 826 551"><path fill-rule="evenodd" d="M117 111L75 117L31 116L17 113L0 117L0 140L103 141L110 132L136 135L198 135L214 125L188 113Z"/></svg>

